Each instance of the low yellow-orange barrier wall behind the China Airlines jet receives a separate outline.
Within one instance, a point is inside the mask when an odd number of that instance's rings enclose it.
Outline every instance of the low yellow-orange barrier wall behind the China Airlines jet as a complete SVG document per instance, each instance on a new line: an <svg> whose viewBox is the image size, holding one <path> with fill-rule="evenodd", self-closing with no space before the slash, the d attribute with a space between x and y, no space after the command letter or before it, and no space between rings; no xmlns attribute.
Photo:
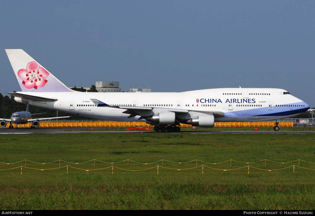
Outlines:
<svg viewBox="0 0 315 216"><path fill-rule="evenodd" d="M7 123L7 127L9 127ZM293 127L293 122L279 122L280 127ZM40 127L153 127L145 122L40 122ZM180 124L181 127L192 127L187 124ZM215 127L274 127L274 122L215 122ZM31 127L30 123L20 124L18 127Z"/></svg>

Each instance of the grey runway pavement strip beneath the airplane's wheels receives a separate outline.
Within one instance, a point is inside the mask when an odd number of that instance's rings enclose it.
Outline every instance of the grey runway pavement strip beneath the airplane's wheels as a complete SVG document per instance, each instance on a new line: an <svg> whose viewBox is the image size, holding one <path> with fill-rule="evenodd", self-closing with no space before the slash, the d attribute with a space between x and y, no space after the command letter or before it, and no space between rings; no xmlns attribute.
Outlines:
<svg viewBox="0 0 315 216"><path fill-rule="evenodd" d="M219 128L218 128L219 129ZM155 132L155 131L91 131L86 127L49 127L49 128L0 128L0 134L79 134L79 133L182 133L182 134L315 134L315 131L180 131L180 132Z"/></svg>

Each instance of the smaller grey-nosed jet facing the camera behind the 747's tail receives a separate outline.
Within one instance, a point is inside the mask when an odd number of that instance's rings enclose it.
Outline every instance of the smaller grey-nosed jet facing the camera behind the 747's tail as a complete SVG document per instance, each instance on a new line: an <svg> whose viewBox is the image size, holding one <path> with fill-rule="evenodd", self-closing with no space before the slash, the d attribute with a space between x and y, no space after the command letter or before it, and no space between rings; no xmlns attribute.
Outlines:
<svg viewBox="0 0 315 216"><path fill-rule="evenodd" d="M18 124L31 123L31 129L33 129L35 127L39 127L39 121L41 120L71 117L71 116L63 116L63 117L52 117L52 118L31 118L32 115L38 115L38 114L44 114L44 113L31 114L28 111L28 105L27 105L26 111L14 112L10 119L3 119L2 122L0 122L0 126L6 127L7 122L10 122L9 129L14 128L12 124L15 124L15 129L18 129Z"/></svg>

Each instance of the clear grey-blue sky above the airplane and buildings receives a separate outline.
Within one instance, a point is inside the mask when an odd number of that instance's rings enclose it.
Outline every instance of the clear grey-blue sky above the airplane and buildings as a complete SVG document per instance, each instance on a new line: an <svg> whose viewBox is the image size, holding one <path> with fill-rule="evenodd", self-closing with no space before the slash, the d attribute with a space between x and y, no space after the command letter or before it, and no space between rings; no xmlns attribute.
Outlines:
<svg viewBox="0 0 315 216"><path fill-rule="evenodd" d="M0 92L20 91L5 48L68 87L154 92L284 88L314 102L314 1L1 1Z"/></svg>

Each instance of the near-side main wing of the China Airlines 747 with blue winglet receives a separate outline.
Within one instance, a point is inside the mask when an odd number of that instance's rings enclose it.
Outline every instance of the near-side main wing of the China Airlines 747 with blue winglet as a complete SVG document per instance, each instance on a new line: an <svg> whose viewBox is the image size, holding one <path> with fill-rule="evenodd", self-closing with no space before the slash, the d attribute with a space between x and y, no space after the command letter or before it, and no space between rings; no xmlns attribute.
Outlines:
<svg viewBox="0 0 315 216"><path fill-rule="evenodd" d="M158 108L158 109L161 109L161 110L175 112L175 113L189 113L189 111L193 111L193 112L200 112L200 113L207 114L207 115L213 115L215 118L224 117L224 112L218 111L218 110L200 111L200 110L181 110L181 109L165 108L165 107L110 106L110 105L108 105L106 103L101 102L100 100L97 100L97 99L91 99L91 101L96 106L124 109L126 111L123 111L123 113L130 114L130 116L128 118L134 117L134 116L141 116L141 114L140 114L141 111L145 111L145 110L150 111L150 110L153 110L153 108Z"/></svg>

